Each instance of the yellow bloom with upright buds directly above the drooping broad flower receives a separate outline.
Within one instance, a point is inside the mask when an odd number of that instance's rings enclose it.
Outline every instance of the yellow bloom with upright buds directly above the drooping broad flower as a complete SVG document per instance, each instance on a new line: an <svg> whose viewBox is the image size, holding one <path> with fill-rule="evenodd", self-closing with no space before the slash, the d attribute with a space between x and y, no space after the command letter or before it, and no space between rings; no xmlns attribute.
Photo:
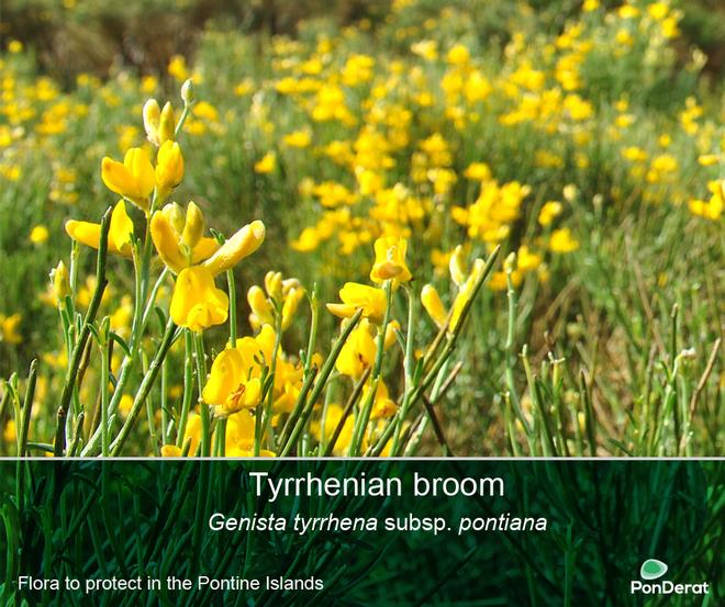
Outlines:
<svg viewBox="0 0 725 607"><path fill-rule="evenodd" d="M156 250L174 273L201 263L219 249L216 239L202 236L203 231L204 217L193 202L187 206L186 217L181 207L171 203L154 213L150 221Z"/></svg>

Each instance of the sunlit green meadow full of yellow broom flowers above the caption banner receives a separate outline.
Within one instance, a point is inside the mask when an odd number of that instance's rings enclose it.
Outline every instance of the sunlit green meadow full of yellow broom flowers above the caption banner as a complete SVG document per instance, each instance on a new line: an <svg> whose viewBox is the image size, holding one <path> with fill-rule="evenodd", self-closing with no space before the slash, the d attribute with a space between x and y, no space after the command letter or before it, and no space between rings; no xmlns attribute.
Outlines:
<svg viewBox="0 0 725 607"><path fill-rule="evenodd" d="M0 453L720 454L718 23L395 0L100 72L4 26Z"/></svg>

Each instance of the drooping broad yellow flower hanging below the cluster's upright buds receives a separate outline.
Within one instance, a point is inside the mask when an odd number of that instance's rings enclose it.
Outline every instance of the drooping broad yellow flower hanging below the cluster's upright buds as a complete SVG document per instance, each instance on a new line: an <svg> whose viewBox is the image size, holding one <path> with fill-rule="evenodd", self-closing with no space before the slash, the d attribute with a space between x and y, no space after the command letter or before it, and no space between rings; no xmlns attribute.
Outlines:
<svg viewBox="0 0 725 607"><path fill-rule="evenodd" d="M214 276L204 266L179 273L171 296L171 318L180 326L201 331L226 321L230 300L214 285Z"/></svg>

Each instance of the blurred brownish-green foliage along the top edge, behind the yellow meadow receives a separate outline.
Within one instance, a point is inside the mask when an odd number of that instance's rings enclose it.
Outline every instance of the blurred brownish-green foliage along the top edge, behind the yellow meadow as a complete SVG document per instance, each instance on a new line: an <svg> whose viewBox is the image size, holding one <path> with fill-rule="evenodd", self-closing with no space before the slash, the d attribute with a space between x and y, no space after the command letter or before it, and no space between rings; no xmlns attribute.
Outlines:
<svg viewBox="0 0 725 607"><path fill-rule="evenodd" d="M467 0L446 3L470 7ZM481 41L505 44L510 23L520 19L517 2L479 2L470 12L470 30ZM581 0L531 0L531 19L545 33L560 31L581 9ZM612 9L617 0L604 0ZM707 55L705 71L725 70L725 4L720 0L682 0L683 36L678 45L687 60L692 45ZM134 67L141 74L164 74L178 53L192 58L205 30L294 34L302 21L330 20L348 25L386 21L390 0L4 0L0 34L19 40L36 52L42 70L71 85L79 72L105 76L113 66ZM419 2L415 19L437 15L440 2Z"/></svg>

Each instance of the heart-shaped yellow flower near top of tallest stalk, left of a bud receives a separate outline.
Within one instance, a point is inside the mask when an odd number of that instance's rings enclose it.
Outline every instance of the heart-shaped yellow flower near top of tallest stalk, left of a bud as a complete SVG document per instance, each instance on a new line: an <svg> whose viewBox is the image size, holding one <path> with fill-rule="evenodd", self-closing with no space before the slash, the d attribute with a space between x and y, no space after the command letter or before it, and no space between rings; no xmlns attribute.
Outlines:
<svg viewBox="0 0 725 607"><path fill-rule="evenodd" d="M148 196L156 184L156 177L145 149L130 148L123 157L123 162L108 156L103 158L101 179L109 190L148 211Z"/></svg>

